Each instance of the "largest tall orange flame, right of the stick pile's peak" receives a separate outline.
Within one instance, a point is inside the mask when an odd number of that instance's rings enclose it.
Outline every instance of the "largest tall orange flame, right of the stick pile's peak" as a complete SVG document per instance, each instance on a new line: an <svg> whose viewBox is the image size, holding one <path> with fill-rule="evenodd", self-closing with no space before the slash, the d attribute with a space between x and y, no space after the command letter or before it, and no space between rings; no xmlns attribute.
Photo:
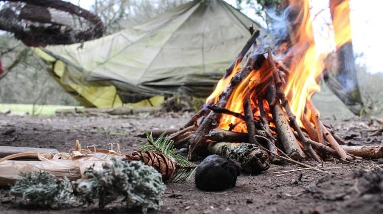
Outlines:
<svg viewBox="0 0 383 214"><path fill-rule="evenodd" d="M324 70L324 57L316 49L316 43L313 33L312 20L309 13L309 4L305 0L295 0L290 5L293 9L299 10L296 24L299 25L295 31L292 53L292 63L289 81L285 87L284 93L290 100L291 110L297 116L298 121L303 115L306 100L320 90L316 78Z"/></svg>

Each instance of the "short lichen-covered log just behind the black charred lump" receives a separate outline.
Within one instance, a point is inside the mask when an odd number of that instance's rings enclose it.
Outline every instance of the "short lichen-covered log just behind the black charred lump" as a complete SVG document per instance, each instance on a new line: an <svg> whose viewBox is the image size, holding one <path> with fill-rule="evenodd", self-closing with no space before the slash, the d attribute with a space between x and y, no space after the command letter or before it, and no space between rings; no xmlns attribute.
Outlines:
<svg viewBox="0 0 383 214"><path fill-rule="evenodd" d="M269 154L260 146L242 143L216 143L209 144L207 149L223 157L229 157L239 162L242 169L248 173L259 174L269 169Z"/></svg>

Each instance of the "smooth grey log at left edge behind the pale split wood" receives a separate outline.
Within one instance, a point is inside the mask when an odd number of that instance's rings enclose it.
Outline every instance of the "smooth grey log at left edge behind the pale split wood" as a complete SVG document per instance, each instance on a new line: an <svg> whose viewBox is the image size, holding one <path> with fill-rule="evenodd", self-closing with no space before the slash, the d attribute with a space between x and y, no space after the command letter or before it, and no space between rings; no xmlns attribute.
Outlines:
<svg viewBox="0 0 383 214"><path fill-rule="evenodd" d="M39 152L39 153L49 153L57 154L59 151L57 149L49 148L34 148L34 147L17 147L17 146L0 146L0 158L6 157L12 154L18 154L23 152ZM36 155L23 156L18 159L38 159Z"/></svg>

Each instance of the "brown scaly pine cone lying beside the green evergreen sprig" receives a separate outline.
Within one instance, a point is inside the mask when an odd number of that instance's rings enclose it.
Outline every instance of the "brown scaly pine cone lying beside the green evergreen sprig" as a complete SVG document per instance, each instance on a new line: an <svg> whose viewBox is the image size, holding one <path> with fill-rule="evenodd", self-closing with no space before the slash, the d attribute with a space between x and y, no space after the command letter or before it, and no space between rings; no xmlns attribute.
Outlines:
<svg viewBox="0 0 383 214"><path fill-rule="evenodd" d="M168 156L153 151L135 151L127 155L129 161L141 161L148 166L154 167L162 176L163 181L173 178L177 170L177 164Z"/></svg>

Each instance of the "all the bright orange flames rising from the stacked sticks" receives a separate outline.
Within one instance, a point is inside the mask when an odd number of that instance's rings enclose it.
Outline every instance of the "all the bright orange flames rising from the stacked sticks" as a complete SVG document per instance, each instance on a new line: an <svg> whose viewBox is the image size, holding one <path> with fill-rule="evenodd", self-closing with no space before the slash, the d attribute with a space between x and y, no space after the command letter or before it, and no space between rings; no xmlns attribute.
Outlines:
<svg viewBox="0 0 383 214"><path fill-rule="evenodd" d="M336 47L339 47L351 41L348 0L339 0L335 4L332 3L336 1L330 2L334 36L333 41L331 41L332 38L327 38L324 43L323 41L316 40L317 37L314 34L312 17L310 16L309 1L290 1L289 7L297 12L297 17L292 23L292 29L290 29L291 32L294 32L290 35L292 48L286 48L288 52L282 53L285 56L282 62L285 61L284 64L289 65L290 70L288 78L285 79L284 94L289 100L292 113L297 116L299 125L302 125L300 120L304 114L306 114L307 117L310 115L310 112L305 109L306 102L315 92L320 91L317 80L325 69L324 59L334 48L327 48L326 51L323 51L323 44L329 47L331 47L331 44L332 46L335 44ZM225 108L236 113L244 114L243 103L245 94L250 93L253 98L251 103L254 110L254 117L259 116L260 113L259 110L257 110L259 100L257 100L257 95L259 95L261 90L265 89L265 82L270 81L268 78L272 75L270 70L265 70L267 68L268 66L262 65L258 70L252 70L250 75L236 87L228 99ZM230 79L240 70L240 63L236 62L231 73L220 80L216 89L214 89L213 93L208 97L207 104L217 102L219 95L224 92L230 83ZM265 103L263 106L269 108ZM267 114L270 113L267 112ZM222 115L219 128L228 129L232 124L235 124L235 128L233 129L235 131L247 131L244 121L227 114Z"/></svg>

